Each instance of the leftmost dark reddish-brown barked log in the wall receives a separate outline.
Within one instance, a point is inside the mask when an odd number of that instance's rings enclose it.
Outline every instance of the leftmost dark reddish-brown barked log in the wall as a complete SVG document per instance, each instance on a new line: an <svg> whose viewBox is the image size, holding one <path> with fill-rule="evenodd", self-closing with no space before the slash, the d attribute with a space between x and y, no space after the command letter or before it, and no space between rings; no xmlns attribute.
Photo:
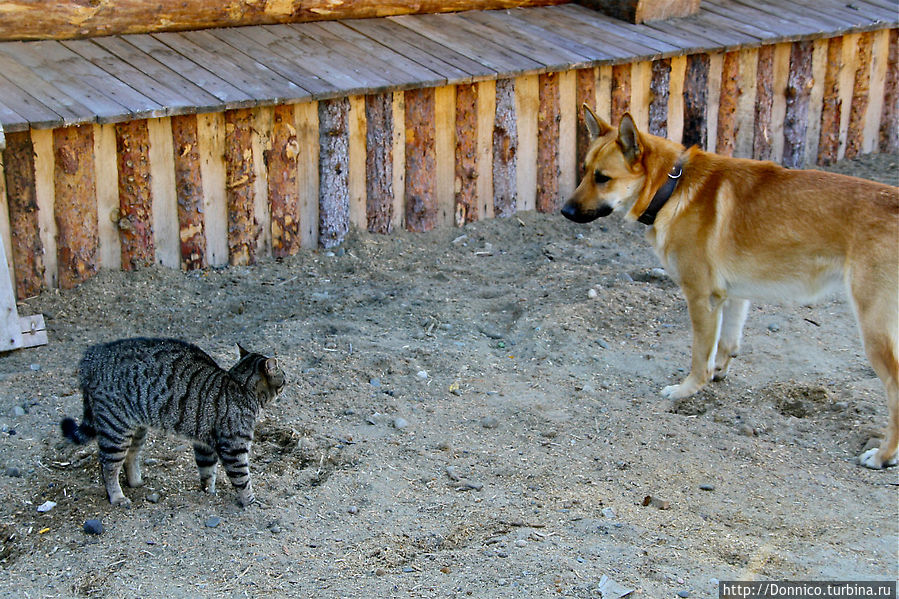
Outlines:
<svg viewBox="0 0 899 599"><path fill-rule="evenodd" d="M28 131L6 134L3 151L10 237L16 273L16 297L40 293L44 285L44 246L38 223L34 145Z"/></svg>

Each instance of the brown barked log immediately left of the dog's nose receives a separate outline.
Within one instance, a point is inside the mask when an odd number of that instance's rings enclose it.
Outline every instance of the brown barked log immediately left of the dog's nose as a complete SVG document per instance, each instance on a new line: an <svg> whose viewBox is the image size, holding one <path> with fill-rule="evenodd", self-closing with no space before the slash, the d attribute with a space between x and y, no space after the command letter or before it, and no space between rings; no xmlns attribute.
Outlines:
<svg viewBox="0 0 899 599"><path fill-rule="evenodd" d="M537 109L537 198L538 212L555 212L559 206L559 74L538 78L540 104Z"/></svg>

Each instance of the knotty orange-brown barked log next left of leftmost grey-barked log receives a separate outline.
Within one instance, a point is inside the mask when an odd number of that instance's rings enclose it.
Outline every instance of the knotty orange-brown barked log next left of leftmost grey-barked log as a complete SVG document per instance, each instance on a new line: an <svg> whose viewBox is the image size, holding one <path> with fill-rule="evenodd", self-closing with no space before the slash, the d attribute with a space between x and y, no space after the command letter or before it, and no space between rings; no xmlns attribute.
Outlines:
<svg viewBox="0 0 899 599"><path fill-rule="evenodd" d="M275 106L272 112L271 148L265 153L268 198L271 211L272 256L286 258L300 249L300 184L297 157L300 142L293 105Z"/></svg>

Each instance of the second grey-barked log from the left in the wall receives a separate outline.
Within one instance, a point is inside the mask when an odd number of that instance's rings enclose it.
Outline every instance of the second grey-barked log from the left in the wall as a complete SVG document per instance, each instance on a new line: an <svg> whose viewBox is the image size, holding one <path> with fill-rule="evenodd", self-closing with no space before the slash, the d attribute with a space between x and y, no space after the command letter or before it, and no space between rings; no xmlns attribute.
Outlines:
<svg viewBox="0 0 899 599"><path fill-rule="evenodd" d="M393 229L393 93L365 96L365 214L368 230Z"/></svg>

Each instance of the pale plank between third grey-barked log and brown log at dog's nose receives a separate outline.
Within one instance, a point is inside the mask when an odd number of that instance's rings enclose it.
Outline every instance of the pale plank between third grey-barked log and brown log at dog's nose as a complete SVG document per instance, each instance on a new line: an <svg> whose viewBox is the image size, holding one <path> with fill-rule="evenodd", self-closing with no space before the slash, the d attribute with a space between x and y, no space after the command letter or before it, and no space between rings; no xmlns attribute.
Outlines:
<svg viewBox="0 0 899 599"><path fill-rule="evenodd" d="M515 79L515 112L518 116L518 152L515 175L517 210L537 209L537 111L540 109L538 75Z"/></svg>

